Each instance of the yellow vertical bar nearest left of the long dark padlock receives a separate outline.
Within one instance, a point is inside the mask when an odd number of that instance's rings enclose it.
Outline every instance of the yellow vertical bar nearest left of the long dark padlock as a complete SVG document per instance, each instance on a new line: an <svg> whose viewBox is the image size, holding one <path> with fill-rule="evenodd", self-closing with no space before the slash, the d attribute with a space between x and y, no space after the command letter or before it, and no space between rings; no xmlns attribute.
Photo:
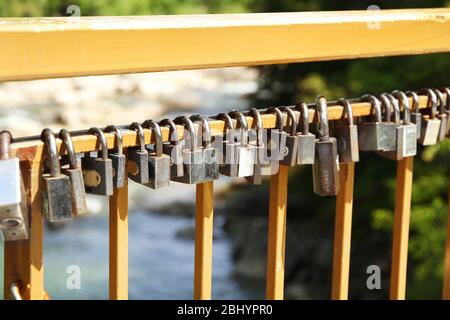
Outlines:
<svg viewBox="0 0 450 320"><path fill-rule="evenodd" d="M288 169L280 165L270 177L269 230L267 240L266 299L284 298L284 259Z"/></svg>

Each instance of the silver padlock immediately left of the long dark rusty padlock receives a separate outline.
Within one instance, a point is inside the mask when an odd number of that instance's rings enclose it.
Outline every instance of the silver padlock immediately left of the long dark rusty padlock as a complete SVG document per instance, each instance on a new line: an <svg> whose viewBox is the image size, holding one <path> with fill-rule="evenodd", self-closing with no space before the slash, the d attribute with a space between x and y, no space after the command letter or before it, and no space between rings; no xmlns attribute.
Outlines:
<svg viewBox="0 0 450 320"><path fill-rule="evenodd" d="M295 107L300 112L301 128L297 128L299 132L298 136L298 152L297 152L297 164L313 164L316 153L316 136L309 132L309 112L308 106L304 102L300 102Z"/></svg>

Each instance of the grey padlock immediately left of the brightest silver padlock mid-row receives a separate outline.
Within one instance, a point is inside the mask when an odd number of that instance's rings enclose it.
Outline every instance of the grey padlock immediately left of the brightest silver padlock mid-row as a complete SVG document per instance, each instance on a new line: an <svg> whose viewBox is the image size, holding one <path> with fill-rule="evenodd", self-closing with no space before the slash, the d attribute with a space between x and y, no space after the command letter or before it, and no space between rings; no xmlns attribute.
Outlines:
<svg viewBox="0 0 450 320"><path fill-rule="evenodd" d="M219 151L219 172L228 177L237 177L239 144L236 141L233 120L226 113L219 113L216 119L225 122L225 139L222 139L222 150Z"/></svg>

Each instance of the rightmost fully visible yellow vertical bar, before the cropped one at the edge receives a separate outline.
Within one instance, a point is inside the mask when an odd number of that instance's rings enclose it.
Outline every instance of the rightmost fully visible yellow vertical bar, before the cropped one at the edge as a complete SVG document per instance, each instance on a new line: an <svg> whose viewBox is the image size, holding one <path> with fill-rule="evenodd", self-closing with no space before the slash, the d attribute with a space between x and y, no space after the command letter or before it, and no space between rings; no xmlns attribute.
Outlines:
<svg viewBox="0 0 450 320"><path fill-rule="evenodd" d="M391 300L404 300L406 294L413 167L413 157L406 157L397 162L391 283L389 293L389 298Z"/></svg>

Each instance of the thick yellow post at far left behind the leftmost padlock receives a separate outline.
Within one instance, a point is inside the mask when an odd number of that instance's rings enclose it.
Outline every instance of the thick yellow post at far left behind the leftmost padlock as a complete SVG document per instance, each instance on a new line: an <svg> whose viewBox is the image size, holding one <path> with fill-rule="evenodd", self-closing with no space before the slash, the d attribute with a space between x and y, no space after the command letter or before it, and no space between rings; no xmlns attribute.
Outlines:
<svg viewBox="0 0 450 320"><path fill-rule="evenodd" d="M35 161L21 163L22 179L29 204L30 238L4 244L4 299L12 299L11 285L20 284L24 300L44 298L44 266L42 261L43 218L41 201L41 153L36 151Z"/></svg>

